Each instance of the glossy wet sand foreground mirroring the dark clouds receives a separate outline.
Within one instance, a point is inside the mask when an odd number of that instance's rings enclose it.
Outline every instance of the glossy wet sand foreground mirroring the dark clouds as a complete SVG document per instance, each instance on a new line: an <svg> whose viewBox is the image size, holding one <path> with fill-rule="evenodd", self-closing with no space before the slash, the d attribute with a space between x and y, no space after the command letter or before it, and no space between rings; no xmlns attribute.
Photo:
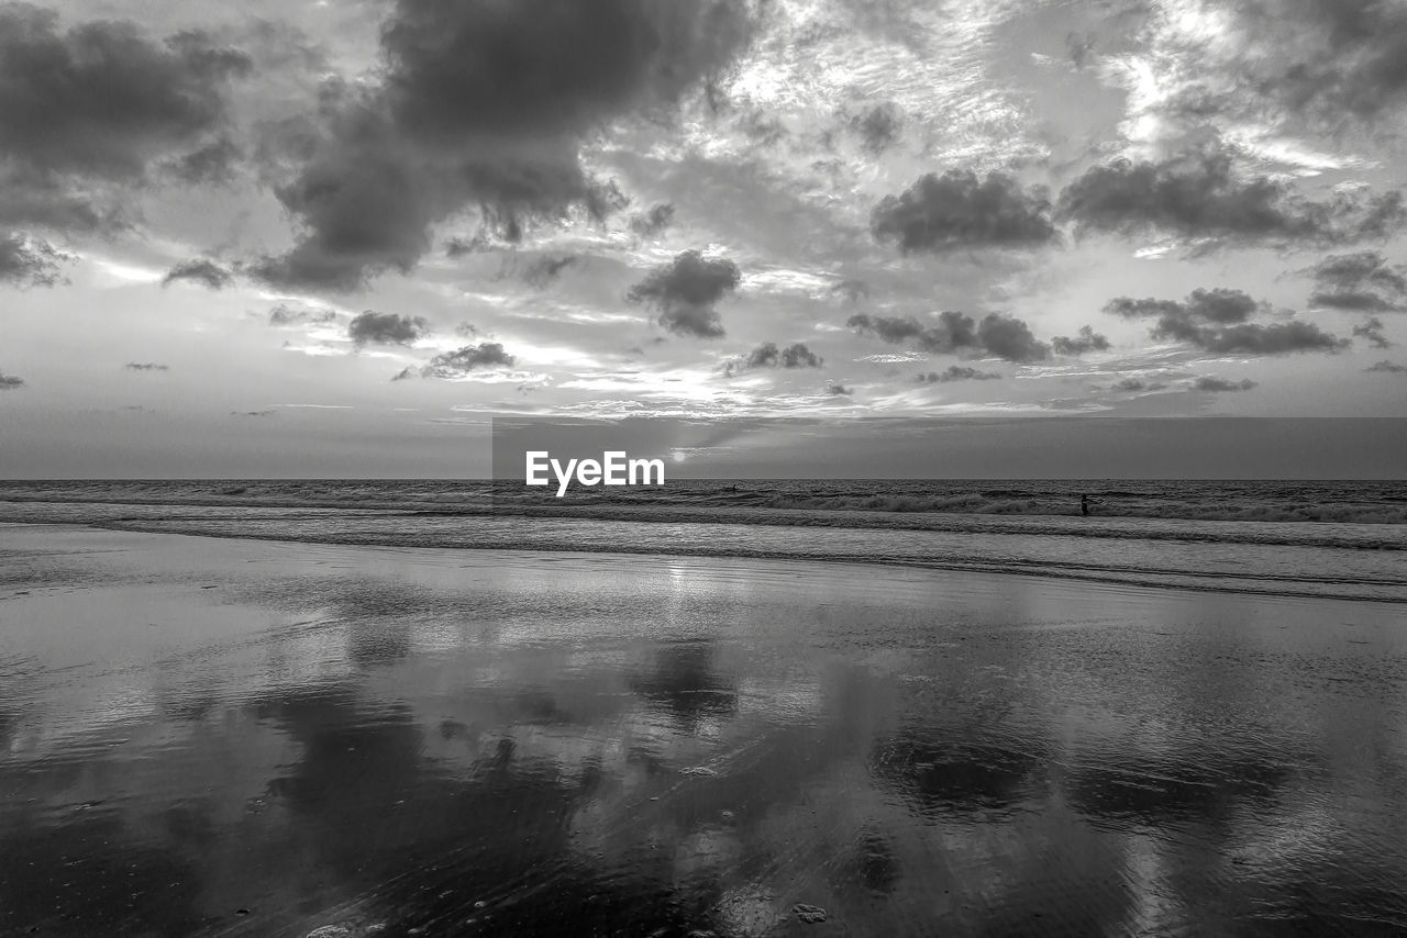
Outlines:
<svg viewBox="0 0 1407 938"><path fill-rule="evenodd" d="M1407 931L1397 603L18 525L0 561L0 934Z"/></svg>

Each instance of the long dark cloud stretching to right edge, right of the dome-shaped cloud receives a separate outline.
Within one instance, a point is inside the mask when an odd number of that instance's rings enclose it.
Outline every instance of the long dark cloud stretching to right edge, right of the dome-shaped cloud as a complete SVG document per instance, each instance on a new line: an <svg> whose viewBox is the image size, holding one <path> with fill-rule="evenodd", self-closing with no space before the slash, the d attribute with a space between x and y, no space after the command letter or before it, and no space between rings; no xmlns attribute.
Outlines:
<svg viewBox="0 0 1407 938"><path fill-rule="evenodd" d="M1334 245L1386 238L1407 211L1400 193L1299 198L1266 176L1238 177L1227 153L1206 150L1162 163L1096 166L1065 187L1055 217L1072 221L1076 232Z"/></svg>

